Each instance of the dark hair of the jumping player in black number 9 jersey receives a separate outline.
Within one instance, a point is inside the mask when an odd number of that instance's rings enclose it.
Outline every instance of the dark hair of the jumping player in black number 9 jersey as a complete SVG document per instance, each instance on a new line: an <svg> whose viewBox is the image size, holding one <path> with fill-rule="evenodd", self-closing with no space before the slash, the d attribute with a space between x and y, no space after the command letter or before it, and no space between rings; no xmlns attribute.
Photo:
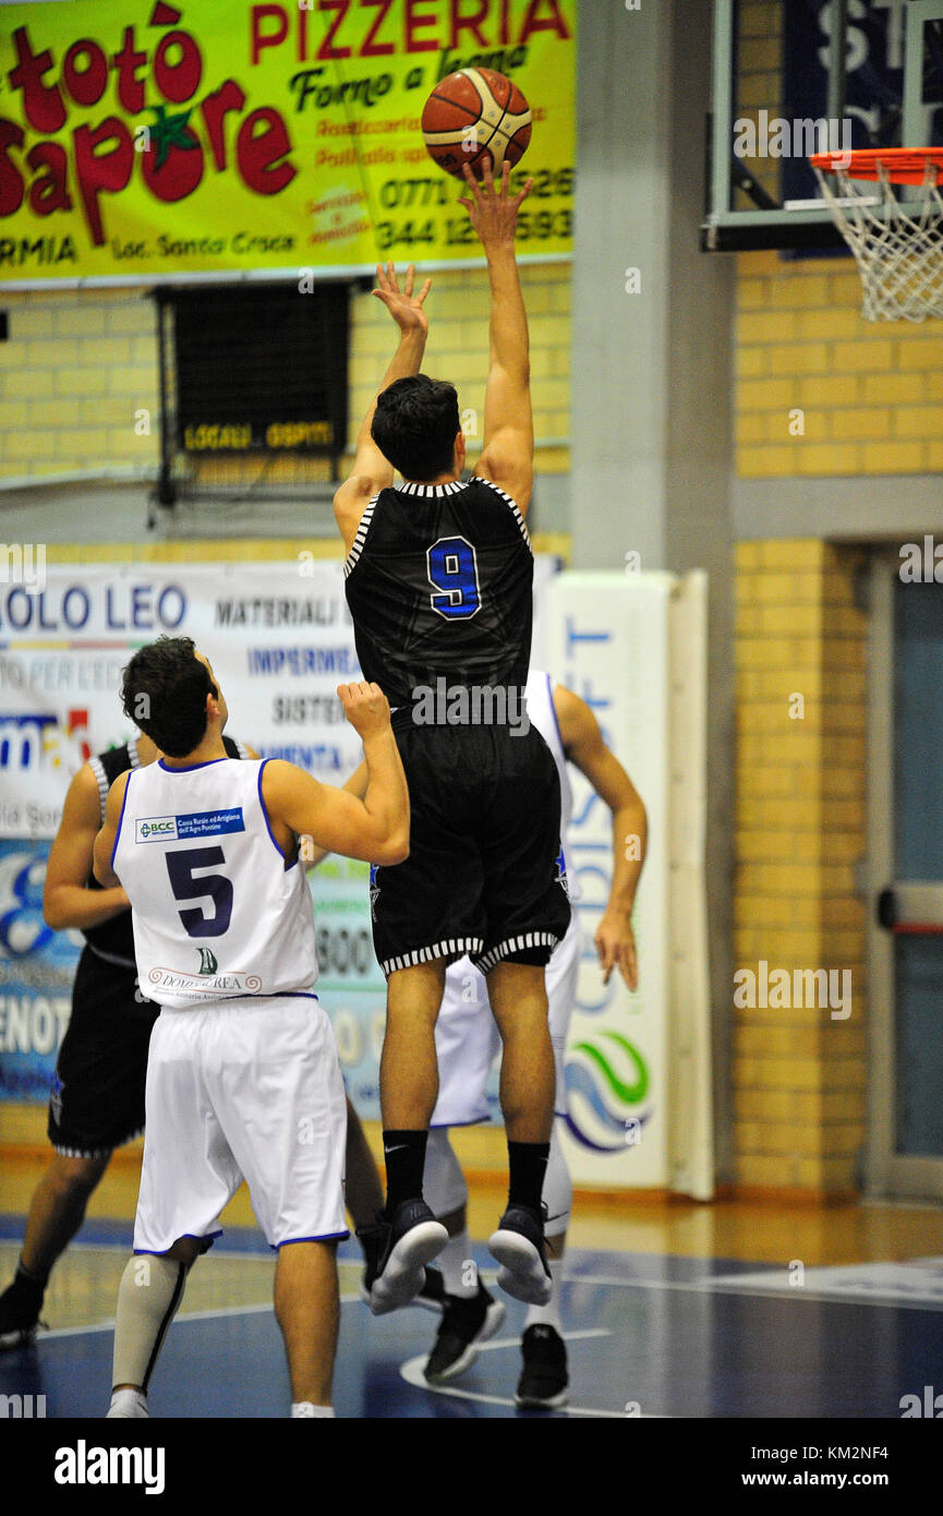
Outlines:
<svg viewBox="0 0 943 1516"><path fill-rule="evenodd" d="M459 431L455 385L412 374L381 393L370 435L403 479L428 484L452 468Z"/></svg>

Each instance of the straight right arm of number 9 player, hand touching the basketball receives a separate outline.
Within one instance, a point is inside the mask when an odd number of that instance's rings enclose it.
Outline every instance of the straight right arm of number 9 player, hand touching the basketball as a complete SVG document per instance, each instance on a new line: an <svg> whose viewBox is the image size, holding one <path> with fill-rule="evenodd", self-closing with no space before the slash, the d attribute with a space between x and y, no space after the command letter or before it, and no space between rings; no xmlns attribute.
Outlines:
<svg viewBox="0 0 943 1516"><path fill-rule="evenodd" d="M517 212L534 180L528 179L520 194L512 196L508 162L499 186L488 161L484 176L484 183L479 185L465 164L472 199L461 200L485 250L491 283L485 434L475 471L505 490L518 511L526 514L534 488L534 417L528 312L517 273L514 233Z"/></svg>

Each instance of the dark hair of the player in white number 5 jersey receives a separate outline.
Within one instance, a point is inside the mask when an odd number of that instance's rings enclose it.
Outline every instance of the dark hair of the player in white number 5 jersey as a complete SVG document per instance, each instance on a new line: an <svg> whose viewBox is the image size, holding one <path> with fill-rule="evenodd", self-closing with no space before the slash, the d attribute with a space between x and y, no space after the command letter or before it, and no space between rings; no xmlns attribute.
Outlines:
<svg viewBox="0 0 943 1516"><path fill-rule="evenodd" d="M186 758L206 735L206 696L218 688L196 656L193 637L158 637L123 670L124 714L168 758Z"/></svg>

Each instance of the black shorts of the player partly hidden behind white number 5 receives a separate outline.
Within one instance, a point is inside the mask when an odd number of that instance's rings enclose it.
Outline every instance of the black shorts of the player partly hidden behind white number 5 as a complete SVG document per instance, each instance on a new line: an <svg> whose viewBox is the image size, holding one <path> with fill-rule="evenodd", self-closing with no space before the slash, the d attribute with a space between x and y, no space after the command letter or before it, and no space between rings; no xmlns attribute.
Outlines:
<svg viewBox="0 0 943 1516"><path fill-rule="evenodd" d="M133 969L85 948L49 1101L56 1152L100 1158L144 1131L147 1045L159 1013L141 999Z"/></svg>

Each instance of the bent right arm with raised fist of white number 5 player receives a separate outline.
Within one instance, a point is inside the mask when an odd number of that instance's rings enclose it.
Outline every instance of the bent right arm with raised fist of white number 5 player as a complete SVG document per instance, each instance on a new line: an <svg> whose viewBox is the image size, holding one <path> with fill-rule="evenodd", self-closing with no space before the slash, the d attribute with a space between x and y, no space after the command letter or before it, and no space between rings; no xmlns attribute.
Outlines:
<svg viewBox="0 0 943 1516"><path fill-rule="evenodd" d="M262 799L273 831L311 837L323 852L394 864L409 855L409 791L390 726L390 705L376 684L343 684L338 696L361 734L367 764L362 799L320 784L294 764L273 758L262 770Z"/></svg>

